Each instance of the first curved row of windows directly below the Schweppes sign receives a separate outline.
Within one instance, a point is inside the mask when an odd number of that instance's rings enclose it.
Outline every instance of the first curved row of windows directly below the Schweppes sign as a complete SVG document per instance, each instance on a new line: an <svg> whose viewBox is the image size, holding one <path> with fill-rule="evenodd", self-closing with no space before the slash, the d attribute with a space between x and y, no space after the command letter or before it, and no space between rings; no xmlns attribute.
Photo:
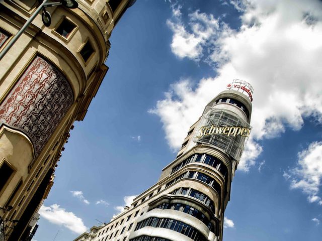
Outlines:
<svg viewBox="0 0 322 241"><path fill-rule="evenodd" d="M200 162L200 163L205 163L207 165L210 165L210 166L214 167L215 169L217 169L224 177L226 177L228 174L228 169L221 160L219 160L216 157L213 157L213 156L210 156L207 154L200 154L200 153L194 154L194 155L188 157L187 159L185 159L184 161L180 162L178 165L176 165L174 168L172 168L171 174L180 170L181 168L183 168L187 164L193 163L193 162Z"/></svg>

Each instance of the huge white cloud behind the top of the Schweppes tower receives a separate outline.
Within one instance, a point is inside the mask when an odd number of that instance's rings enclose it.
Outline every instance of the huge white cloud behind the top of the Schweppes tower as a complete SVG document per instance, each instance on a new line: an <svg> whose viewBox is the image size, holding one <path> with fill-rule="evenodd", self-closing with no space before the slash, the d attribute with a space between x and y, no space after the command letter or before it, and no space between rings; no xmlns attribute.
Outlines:
<svg viewBox="0 0 322 241"><path fill-rule="evenodd" d="M305 116L322 123L322 5L314 0L231 2L241 13L239 30L199 11L189 14L187 24L180 17L168 20L173 53L214 64L218 75L197 86L179 80L149 112L161 118L170 147L178 150L203 106L232 79L248 80L255 90L252 140L238 167L248 171L262 152L259 140L276 138L286 128L301 129ZM307 20L308 13L314 21Z"/></svg>

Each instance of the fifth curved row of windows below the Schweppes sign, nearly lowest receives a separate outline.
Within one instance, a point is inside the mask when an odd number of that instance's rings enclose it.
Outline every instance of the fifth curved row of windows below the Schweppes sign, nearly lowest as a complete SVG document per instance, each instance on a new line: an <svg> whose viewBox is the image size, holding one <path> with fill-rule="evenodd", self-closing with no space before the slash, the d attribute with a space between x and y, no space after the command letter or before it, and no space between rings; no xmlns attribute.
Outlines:
<svg viewBox="0 0 322 241"><path fill-rule="evenodd" d="M170 219L170 218L158 218L158 217L149 217L144 219L141 222L138 222L136 225L135 230L138 230L143 227L160 227L160 228L167 228L170 230L174 230L176 232L182 233L191 239L195 241L206 241L207 238L205 238L202 233L197 230L196 228L175 220L175 219Z"/></svg>

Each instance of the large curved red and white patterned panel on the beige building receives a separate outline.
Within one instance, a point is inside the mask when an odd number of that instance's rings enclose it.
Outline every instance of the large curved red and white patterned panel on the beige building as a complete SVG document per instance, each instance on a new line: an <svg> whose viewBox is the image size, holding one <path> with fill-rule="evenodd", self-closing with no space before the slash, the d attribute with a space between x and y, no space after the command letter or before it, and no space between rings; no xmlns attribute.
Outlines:
<svg viewBox="0 0 322 241"><path fill-rule="evenodd" d="M72 103L68 81L38 56L1 103L0 122L29 136L37 156Z"/></svg>

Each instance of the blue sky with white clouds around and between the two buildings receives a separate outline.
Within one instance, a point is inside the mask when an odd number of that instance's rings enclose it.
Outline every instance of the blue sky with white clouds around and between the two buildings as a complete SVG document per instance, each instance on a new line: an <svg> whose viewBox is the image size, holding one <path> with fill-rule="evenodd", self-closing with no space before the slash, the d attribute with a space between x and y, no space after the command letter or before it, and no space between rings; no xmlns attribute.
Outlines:
<svg viewBox="0 0 322 241"><path fill-rule="evenodd" d="M74 124L34 239L73 240L108 222L240 78L254 86L253 131L223 238L320 240L321 21L317 0L137 1L112 33L110 69Z"/></svg>

